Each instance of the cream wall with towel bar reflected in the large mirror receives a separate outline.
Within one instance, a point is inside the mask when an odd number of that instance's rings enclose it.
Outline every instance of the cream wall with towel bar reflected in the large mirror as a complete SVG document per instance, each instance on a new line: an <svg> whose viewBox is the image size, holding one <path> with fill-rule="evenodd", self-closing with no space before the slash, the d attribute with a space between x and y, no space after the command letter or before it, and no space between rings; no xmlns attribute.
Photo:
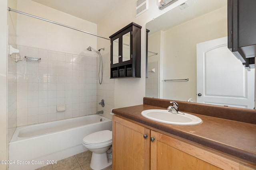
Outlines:
<svg viewBox="0 0 256 170"><path fill-rule="evenodd" d="M196 102L196 44L227 36L227 22L222 7L164 31L164 79L189 78L163 83L164 99Z"/></svg>

